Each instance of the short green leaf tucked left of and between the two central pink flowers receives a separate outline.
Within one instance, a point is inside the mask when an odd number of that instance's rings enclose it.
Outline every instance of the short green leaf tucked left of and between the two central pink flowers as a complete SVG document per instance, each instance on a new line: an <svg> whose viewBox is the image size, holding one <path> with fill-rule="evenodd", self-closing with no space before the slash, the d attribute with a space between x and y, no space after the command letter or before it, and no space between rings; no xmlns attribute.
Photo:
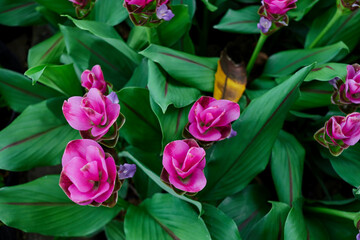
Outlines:
<svg viewBox="0 0 360 240"><path fill-rule="evenodd" d="M182 139L184 127L189 121L188 114L191 105L185 108L175 108L170 106L165 113L161 111L161 108L153 99L150 100L150 105L160 123L162 149L164 149L169 142Z"/></svg>

